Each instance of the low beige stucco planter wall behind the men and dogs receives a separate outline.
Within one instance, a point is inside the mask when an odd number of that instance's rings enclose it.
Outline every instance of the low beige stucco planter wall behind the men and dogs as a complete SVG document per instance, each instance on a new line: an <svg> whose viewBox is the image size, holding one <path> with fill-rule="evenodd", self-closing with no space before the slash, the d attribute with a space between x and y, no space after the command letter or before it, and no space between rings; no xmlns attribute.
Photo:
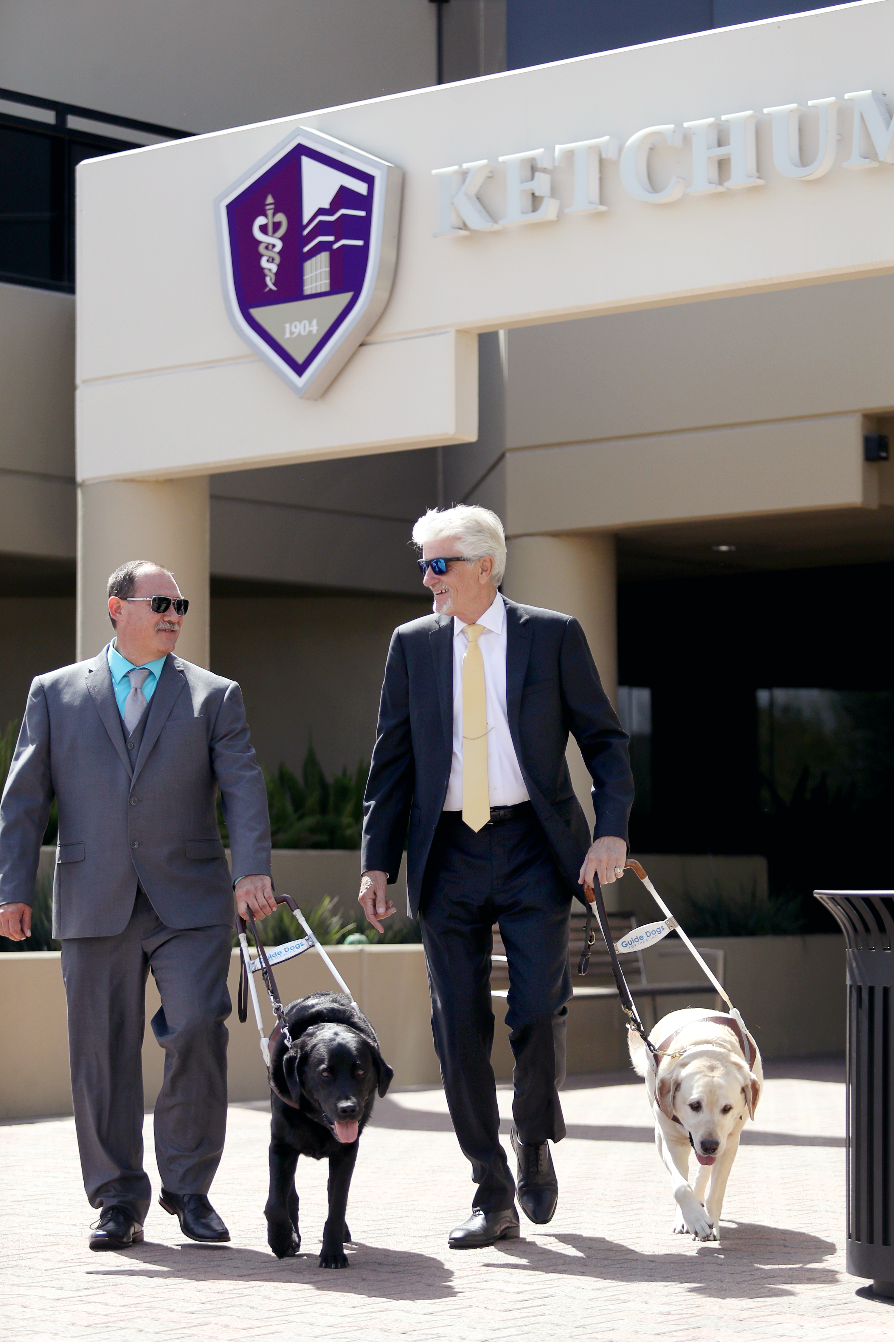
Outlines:
<svg viewBox="0 0 894 1342"><path fill-rule="evenodd" d="M842 937L741 937L712 939L725 953L725 982L765 1056L807 1056L844 1047L844 942ZM395 1086L437 1086L438 1066L429 1028L429 993L421 946L336 946L330 954L361 1009L373 1021ZM649 957L662 954L661 947ZM653 981L690 978L688 957L651 961ZM236 998L239 958L233 953L229 990ZM332 988L332 978L314 951L276 972L284 1000ZM769 990L772 989L772 990ZM634 988L635 992L635 988ZM642 996L642 994L641 994ZM659 998L659 1013L686 1005ZM700 1004L712 1005L710 998ZM146 993L143 1084L151 1107L162 1076L162 1051L149 1020L158 1009L150 978ZM251 1008L249 1008L251 1011ZM647 1023L649 1002L643 1012ZM511 1075L512 1060L501 1004L495 1001L497 1031L493 1067ZM0 1032L0 1118L70 1114L71 1090L66 1044L66 1002L58 953L0 954L0 1020L27 1021ZM265 1012L269 1028L269 1011ZM264 1099L267 1078L253 1019L229 1023L229 1096ZM579 998L571 1004L568 1072L614 1071L627 1066L623 1016L614 998Z"/></svg>

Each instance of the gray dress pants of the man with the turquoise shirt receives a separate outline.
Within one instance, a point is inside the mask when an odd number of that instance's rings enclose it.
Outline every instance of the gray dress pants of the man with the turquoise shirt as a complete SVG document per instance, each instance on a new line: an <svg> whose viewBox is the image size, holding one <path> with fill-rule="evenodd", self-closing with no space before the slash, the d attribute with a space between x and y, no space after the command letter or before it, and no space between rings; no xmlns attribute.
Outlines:
<svg viewBox="0 0 894 1342"><path fill-rule="evenodd" d="M149 1210L141 1049L150 970L162 1002L151 1028L166 1055L155 1102L162 1186L210 1188L227 1131L231 938L225 926L168 927L138 890L118 937L63 941L71 1094L91 1206L127 1206L141 1224Z"/></svg>

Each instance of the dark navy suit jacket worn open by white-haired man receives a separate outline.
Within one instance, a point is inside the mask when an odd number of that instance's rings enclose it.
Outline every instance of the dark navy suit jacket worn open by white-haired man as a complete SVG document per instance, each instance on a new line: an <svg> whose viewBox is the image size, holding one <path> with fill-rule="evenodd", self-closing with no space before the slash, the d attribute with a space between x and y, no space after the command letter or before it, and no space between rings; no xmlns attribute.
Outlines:
<svg viewBox="0 0 894 1342"><path fill-rule="evenodd" d="M590 828L566 764L568 733L592 777L594 839L627 837L633 777L627 735L602 688L576 620L507 600L507 714L528 796L556 866L580 895ZM426 615L391 636L366 785L361 871L397 879L406 862L416 917L453 760L453 619Z"/></svg>

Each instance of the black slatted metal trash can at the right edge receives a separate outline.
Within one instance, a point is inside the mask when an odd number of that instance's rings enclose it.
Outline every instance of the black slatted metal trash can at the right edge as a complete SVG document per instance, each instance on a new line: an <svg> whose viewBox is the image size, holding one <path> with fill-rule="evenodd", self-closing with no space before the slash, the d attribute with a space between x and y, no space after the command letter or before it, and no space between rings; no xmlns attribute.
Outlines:
<svg viewBox="0 0 894 1342"><path fill-rule="evenodd" d="M814 895L847 943L847 1271L894 1296L894 891Z"/></svg>

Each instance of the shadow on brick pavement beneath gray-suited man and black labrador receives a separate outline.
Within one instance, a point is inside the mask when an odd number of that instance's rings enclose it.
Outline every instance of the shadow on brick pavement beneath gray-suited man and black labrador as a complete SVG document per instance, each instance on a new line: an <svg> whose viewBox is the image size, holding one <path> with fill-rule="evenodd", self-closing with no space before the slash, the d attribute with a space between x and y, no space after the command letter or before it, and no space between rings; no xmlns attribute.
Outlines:
<svg viewBox="0 0 894 1342"><path fill-rule="evenodd" d="M264 1286L300 1284L318 1291L343 1291L386 1300L442 1300L456 1295L453 1272L440 1259L405 1249L347 1244L347 1268L319 1266L316 1245L298 1257L277 1259L259 1249L222 1245L134 1245L117 1255L111 1268L87 1270L87 1276L147 1278L158 1282L252 1282Z"/></svg>

